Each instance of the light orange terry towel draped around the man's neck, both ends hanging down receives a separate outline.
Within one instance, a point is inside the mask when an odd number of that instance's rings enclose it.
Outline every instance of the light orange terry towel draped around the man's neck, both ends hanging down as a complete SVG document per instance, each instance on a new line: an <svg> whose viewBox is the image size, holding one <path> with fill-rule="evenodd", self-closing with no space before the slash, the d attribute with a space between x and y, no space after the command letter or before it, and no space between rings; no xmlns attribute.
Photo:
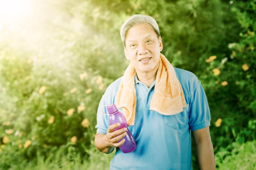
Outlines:
<svg viewBox="0 0 256 170"><path fill-rule="evenodd" d="M124 72L116 98L116 105L123 109L123 114L130 125L135 122L136 93L135 68L129 64ZM183 111L186 101L180 81L175 70L166 57L160 54L159 68L157 70L155 92L153 94L150 110L162 115L175 115Z"/></svg>

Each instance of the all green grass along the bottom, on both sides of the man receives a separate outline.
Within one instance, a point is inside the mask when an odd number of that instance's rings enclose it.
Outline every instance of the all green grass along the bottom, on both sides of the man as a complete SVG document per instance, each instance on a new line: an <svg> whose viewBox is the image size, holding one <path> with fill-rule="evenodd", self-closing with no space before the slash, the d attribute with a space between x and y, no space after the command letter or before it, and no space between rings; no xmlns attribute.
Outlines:
<svg viewBox="0 0 256 170"><path fill-rule="evenodd" d="M111 154L101 153L93 144L87 152L90 155L87 160L79 155L74 155L70 159L60 149L49 153L47 158L37 154L31 161L22 160L24 158L19 157L20 155L13 158L14 155L0 152L0 170L109 170L114 152ZM7 161L8 159L10 161ZM256 170L256 141L248 141L243 144L233 143L216 153L215 159L217 170ZM8 162L8 168L4 166L4 161Z"/></svg>

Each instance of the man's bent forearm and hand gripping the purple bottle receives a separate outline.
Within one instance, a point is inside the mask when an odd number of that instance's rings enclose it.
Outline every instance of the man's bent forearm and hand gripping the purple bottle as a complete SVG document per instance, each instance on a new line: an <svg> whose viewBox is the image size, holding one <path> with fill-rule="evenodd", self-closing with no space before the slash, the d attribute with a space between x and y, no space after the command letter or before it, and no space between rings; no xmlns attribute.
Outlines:
<svg viewBox="0 0 256 170"><path fill-rule="evenodd" d="M110 125L106 134L96 133L94 143L97 150L104 153L111 153L114 150L114 147L119 147L124 144L125 139L122 138L127 135L127 128L121 128L114 131L114 129L119 126L121 126L119 123ZM121 141L118 142L119 140Z"/></svg>

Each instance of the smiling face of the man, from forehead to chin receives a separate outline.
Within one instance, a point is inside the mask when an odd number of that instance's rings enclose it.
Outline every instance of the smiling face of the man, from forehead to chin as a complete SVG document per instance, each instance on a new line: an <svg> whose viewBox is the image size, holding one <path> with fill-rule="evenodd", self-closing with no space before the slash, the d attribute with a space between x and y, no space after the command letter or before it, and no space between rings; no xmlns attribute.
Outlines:
<svg viewBox="0 0 256 170"><path fill-rule="evenodd" d="M124 52L137 73L156 72L162 49L162 39L157 39L150 24L136 25L128 30Z"/></svg>

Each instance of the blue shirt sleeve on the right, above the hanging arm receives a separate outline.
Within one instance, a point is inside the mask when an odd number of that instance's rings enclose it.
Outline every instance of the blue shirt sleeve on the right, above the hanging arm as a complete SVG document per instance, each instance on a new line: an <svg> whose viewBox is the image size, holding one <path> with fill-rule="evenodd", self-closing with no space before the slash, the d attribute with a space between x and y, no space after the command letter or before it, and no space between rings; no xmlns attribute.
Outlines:
<svg viewBox="0 0 256 170"><path fill-rule="evenodd" d="M191 94L189 126L191 130L198 130L210 126L211 114L207 97L202 84L196 79L195 87Z"/></svg>

